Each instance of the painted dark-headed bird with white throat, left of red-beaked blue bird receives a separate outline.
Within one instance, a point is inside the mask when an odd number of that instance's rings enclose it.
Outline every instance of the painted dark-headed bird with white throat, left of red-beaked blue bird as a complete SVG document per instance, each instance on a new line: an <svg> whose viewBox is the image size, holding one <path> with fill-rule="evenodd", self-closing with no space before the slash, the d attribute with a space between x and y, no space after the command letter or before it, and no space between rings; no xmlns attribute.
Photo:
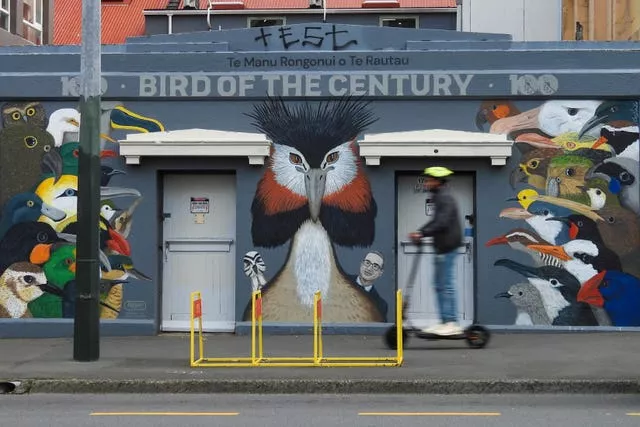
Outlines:
<svg viewBox="0 0 640 427"><path fill-rule="evenodd" d="M530 267L510 259L499 259L494 265L521 274L538 289L552 325L598 325L591 308L578 302L580 282L567 270L552 266Z"/></svg>

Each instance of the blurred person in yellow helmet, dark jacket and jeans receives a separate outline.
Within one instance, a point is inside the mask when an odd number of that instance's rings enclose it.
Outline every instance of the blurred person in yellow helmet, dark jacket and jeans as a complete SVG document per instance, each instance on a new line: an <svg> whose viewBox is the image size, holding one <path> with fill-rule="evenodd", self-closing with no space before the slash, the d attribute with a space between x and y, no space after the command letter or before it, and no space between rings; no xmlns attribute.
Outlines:
<svg viewBox="0 0 640 427"><path fill-rule="evenodd" d="M409 238L416 244L420 244L423 237L433 237L436 250L435 290L441 323L422 331L439 336L464 334L464 330L458 324L457 291L453 277L457 249L463 244L462 230L457 203L446 185L446 177L452 173L451 170L441 166L424 170L427 177L424 186L433 194L435 215L418 231L409 234Z"/></svg>

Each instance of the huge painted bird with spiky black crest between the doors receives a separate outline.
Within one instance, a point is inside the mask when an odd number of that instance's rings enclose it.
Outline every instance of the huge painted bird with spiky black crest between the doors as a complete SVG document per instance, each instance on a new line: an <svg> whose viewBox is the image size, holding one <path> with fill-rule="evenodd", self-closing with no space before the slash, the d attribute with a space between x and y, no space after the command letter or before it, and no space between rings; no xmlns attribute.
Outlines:
<svg viewBox="0 0 640 427"><path fill-rule="evenodd" d="M368 103L342 97L317 107L269 98L247 114L272 141L251 206L255 246L289 242L284 265L262 288L265 321L311 322L322 295L327 322L382 322L374 301L342 270L334 244L371 245L377 205L356 138L377 119ZM244 319L251 318L250 304Z"/></svg>

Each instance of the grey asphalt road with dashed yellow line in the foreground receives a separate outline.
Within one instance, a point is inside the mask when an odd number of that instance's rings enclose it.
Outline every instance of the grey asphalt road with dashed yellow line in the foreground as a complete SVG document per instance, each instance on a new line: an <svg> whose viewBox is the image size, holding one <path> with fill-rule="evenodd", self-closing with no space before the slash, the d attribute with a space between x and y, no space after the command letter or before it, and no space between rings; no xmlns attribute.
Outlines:
<svg viewBox="0 0 640 427"><path fill-rule="evenodd" d="M637 415L633 415L633 414ZM638 426L634 395L0 395L2 426Z"/></svg>

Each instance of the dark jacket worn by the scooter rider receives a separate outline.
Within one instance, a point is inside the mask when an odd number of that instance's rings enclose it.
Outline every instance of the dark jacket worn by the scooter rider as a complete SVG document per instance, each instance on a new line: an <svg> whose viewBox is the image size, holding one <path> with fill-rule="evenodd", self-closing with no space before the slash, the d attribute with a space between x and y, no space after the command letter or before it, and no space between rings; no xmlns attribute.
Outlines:
<svg viewBox="0 0 640 427"><path fill-rule="evenodd" d="M432 192L436 213L420 231L424 237L433 237L436 253L444 254L458 249L463 243L458 206L446 186Z"/></svg>

